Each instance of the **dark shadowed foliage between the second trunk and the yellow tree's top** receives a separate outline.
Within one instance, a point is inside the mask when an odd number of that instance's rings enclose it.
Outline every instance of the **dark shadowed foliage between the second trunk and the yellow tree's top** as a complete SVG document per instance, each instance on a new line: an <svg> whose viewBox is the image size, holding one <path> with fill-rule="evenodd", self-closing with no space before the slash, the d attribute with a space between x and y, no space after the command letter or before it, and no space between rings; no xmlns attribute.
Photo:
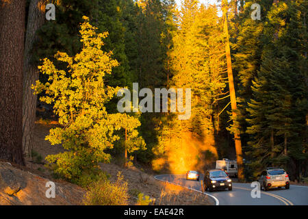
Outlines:
<svg viewBox="0 0 308 219"><path fill-rule="evenodd" d="M33 49L36 60L44 57L53 60L53 55L57 51L65 51L68 55L75 55L82 46L77 36L78 29L76 27L83 21L84 14L94 18L96 13L94 5L97 5L98 1L51 1L56 7L56 19L45 22L38 31L38 40Z"/></svg>

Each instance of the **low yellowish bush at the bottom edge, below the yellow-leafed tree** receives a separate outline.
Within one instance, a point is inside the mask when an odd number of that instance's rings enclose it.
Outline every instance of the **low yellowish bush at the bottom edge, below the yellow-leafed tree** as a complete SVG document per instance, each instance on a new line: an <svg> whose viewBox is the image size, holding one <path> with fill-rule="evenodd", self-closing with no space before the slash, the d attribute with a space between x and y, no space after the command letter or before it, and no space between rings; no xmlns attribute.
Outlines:
<svg viewBox="0 0 308 219"><path fill-rule="evenodd" d="M127 205L127 182L118 172L118 179L112 183L105 178L100 178L92 183L84 198L84 205Z"/></svg>

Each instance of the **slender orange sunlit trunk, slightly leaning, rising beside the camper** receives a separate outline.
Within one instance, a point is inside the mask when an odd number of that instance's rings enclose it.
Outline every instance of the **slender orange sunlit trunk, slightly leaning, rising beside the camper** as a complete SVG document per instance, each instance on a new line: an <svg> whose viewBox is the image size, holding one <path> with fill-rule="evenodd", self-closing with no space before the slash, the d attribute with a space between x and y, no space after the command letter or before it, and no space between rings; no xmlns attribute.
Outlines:
<svg viewBox="0 0 308 219"><path fill-rule="evenodd" d="M227 71L228 71L228 79L229 79L229 91L230 91L230 99L231 99L232 116L234 119L236 118L235 110L237 110L237 104L236 104L235 88L234 88L233 73L232 73L232 62L231 62L231 51L230 51L228 18L227 18L227 1L226 0L224 0L223 9L224 9L224 34L226 36ZM233 123L234 122L235 121L233 121ZM243 170L243 157L242 157L242 143L241 143L239 131L235 131L234 133L234 142L235 142L236 160L238 162L238 179L240 181L243 181L244 180L244 170Z"/></svg>

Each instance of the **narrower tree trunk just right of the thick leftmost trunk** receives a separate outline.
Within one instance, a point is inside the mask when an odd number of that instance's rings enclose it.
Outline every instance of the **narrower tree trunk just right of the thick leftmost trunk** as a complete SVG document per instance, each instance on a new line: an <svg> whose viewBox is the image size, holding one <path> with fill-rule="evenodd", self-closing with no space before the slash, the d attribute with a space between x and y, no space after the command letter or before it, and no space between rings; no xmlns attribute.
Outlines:
<svg viewBox="0 0 308 219"><path fill-rule="evenodd" d="M23 153L31 155L33 149L33 129L36 120L36 99L31 85L38 80L38 66L32 62L32 48L36 31L44 23L45 5L47 0L31 0L25 38L25 60L23 65Z"/></svg>

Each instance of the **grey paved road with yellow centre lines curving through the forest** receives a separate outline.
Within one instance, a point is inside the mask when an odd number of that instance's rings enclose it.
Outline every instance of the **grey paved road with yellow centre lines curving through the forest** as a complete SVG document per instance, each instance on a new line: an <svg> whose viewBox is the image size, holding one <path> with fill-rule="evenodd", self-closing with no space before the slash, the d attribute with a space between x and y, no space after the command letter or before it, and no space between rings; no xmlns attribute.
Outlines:
<svg viewBox="0 0 308 219"><path fill-rule="evenodd" d="M185 175L158 175L155 179L201 192L201 182L186 180ZM200 179L203 179L203 175ZM214 198L216 205L308 205L308 186L291 185L290 190L261 191L260 198L252 198L251 190L250 183L233 183L232 191L207 191L205 194Z"/></svg>

